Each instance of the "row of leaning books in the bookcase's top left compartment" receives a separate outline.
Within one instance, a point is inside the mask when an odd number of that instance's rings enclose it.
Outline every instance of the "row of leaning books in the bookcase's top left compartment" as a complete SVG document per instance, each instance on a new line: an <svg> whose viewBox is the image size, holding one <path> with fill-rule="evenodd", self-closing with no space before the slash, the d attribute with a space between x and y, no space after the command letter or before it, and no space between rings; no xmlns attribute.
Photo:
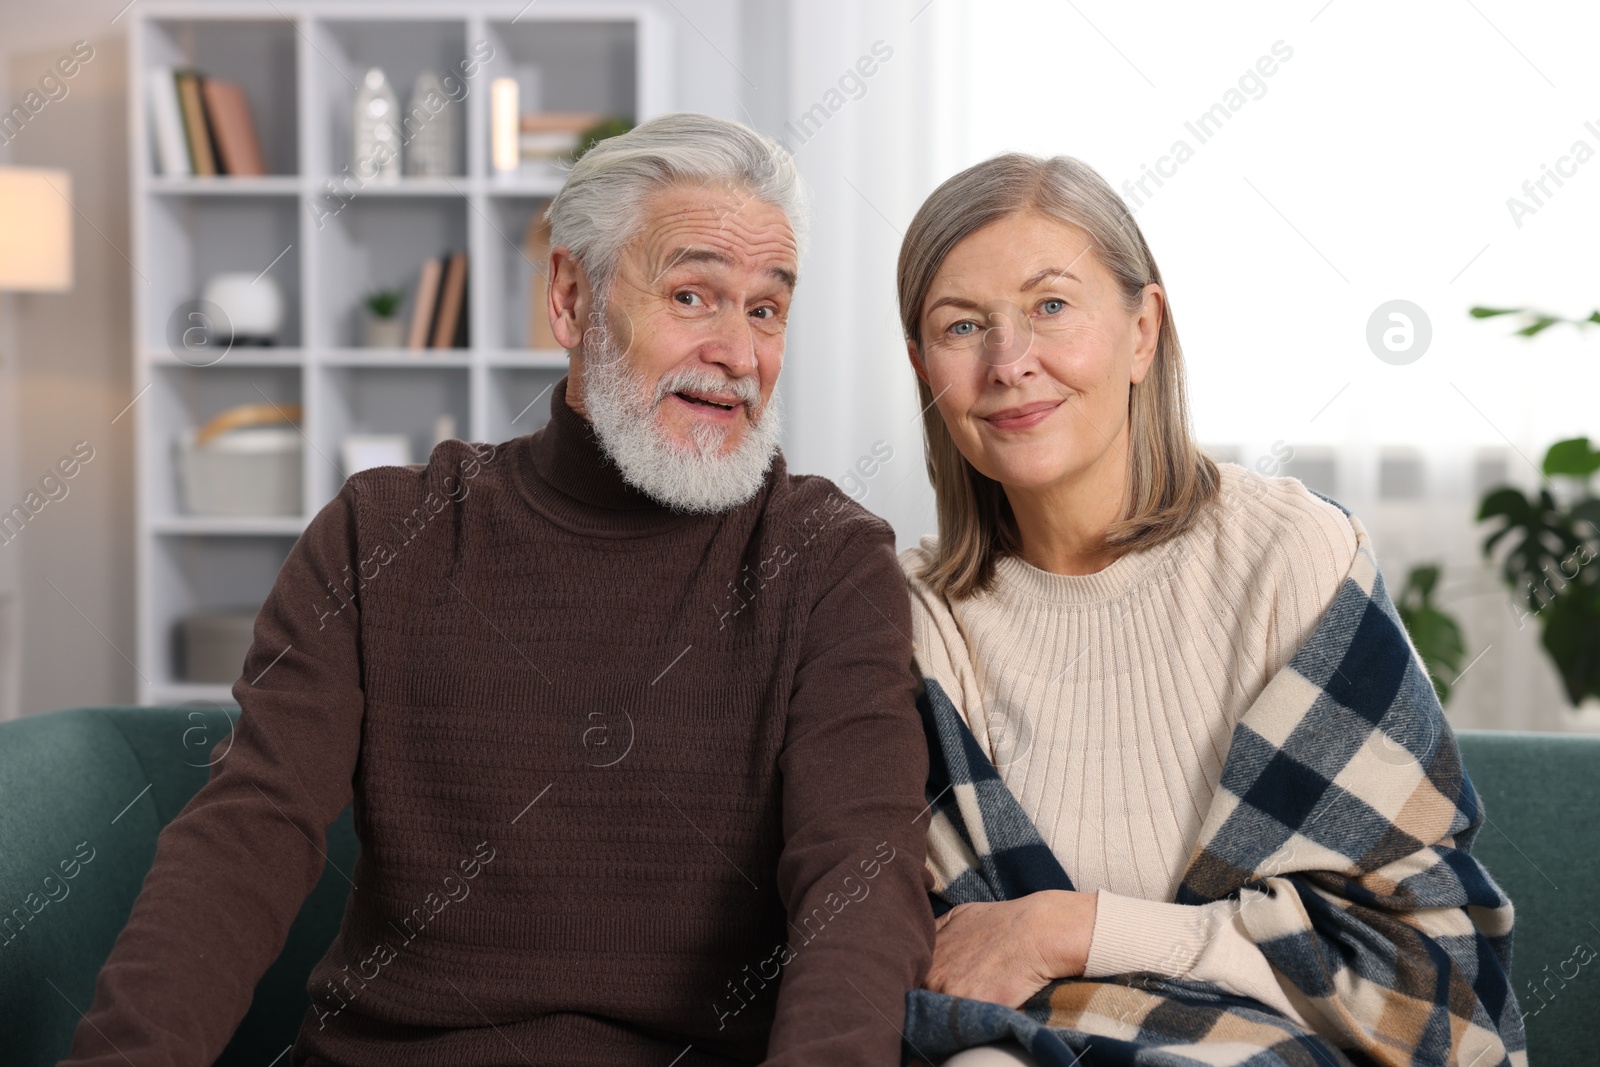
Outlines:
<svg viewBox="0 0 1600 1067"><path fill-rule="evenodd" d="M267 173L245 90L197 70L149 75L155 155L162 174L216 178Z"/></svg>

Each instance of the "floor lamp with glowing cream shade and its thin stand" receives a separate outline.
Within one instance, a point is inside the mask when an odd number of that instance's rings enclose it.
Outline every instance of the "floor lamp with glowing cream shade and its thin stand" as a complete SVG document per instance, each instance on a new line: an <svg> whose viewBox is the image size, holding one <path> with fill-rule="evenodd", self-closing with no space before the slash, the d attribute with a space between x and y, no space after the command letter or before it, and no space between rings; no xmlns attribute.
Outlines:
<svg viewBox="0 0 1600 1067"><path fill-rule="evenodd" d="M0 166L0 721L21 702L21 601L16 493L16 330L8 293L72 288L72 174L38 166Z"/></svg>

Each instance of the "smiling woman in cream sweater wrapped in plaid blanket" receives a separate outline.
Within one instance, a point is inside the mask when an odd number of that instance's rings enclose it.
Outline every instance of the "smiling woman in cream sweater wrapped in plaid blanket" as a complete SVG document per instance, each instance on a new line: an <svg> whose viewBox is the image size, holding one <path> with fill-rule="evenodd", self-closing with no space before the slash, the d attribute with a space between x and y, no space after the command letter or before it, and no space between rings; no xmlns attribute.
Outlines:
<svg viewBox="0 0 1600 1067"><path fill-rule="evenodd" d="M939 517L901 563L944 749L910 1045L1525 1062L1510 902L1466 851L1477 800L1365 530L1195 446L1118 197L1070 158L973 166L912 221L899 301Z"/></svg>

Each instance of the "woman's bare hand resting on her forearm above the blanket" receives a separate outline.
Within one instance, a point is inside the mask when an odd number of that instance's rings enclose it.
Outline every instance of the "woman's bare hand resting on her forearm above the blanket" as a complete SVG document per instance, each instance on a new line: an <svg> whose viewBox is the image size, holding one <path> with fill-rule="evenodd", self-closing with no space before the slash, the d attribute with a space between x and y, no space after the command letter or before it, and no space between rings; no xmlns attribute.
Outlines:
<svg viewBox="0 0 1600 1067"><path fill-rule="evenodd" d="M1054 979L1083 974L1094 894L1048 889L1016 901L957 904L934 928L928 989L1018 1008Z"/></svg>

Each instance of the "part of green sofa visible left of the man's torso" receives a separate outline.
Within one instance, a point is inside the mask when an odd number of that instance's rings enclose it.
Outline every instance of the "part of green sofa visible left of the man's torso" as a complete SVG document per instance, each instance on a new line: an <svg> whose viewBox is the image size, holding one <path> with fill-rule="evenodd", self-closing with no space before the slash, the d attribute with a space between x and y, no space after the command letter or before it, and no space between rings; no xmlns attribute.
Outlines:
<svg viewBox="0 0 1600 1067"><path fill-rule="evenodd" d="M216 705L78 707L0 725L8 1067L48 1067L67 1054L155 861L157 835L206 782L210 763L226 758L230 729L230 713ZM355 854L346 811L328 829L328 857L350 870ZM294 1040L310 1006L306 979L339 929L347 893L342 877L323 872L219 1067L261 1067Z"/></svg>

